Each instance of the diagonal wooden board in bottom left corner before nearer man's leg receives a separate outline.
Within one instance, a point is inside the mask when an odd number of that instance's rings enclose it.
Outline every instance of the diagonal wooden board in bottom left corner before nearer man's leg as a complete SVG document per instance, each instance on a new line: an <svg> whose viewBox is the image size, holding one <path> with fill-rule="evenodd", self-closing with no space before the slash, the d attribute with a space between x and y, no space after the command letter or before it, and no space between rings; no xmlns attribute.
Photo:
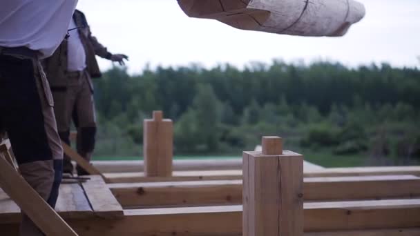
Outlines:
<svg viewBox="0 0 420 236"><path fill-rule="evenodd" d="M46 235L77 235L66 222L0 155L0 184L17 205Z"/></svg>

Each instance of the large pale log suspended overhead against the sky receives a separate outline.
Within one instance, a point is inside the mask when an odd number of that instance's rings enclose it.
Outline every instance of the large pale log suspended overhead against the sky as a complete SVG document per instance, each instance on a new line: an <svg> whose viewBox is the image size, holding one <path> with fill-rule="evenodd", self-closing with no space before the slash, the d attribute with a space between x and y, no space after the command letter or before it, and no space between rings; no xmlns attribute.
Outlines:
<svg viewBox="0 0 420 236"><path fill-rule="evenodd" d="M282 35L343 36L365 16L354 0L178 0L189 17Z"/></svg>

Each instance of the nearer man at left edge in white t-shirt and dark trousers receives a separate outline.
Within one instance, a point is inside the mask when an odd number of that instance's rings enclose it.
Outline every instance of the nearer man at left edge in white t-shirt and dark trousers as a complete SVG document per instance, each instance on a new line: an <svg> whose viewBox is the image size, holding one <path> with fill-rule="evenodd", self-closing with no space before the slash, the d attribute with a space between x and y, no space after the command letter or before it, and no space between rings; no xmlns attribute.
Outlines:
<svg viewBox="0 0 420 236"><path fill-rule="evenodd" d="M8 132L19 170L55 207L63 150L53 97L39 59L59 46L77 0L2 0L0 7L0 129ZM43 235L23 214L20 235Z"/></svg>

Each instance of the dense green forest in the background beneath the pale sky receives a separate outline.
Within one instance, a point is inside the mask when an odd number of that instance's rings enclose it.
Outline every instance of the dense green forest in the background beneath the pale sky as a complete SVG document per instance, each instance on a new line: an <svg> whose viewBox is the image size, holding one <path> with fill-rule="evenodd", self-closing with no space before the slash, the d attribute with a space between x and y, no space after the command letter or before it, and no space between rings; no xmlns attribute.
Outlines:
<svg viewBox="0 0 420 236"><path fill-rule="evenodd" d="M96 159L138 159L142 121L163 110L178 157L240 157L263 135L323 166L420 161L420 70L251 63L203 68L114 67L95 79Z"/></svg>

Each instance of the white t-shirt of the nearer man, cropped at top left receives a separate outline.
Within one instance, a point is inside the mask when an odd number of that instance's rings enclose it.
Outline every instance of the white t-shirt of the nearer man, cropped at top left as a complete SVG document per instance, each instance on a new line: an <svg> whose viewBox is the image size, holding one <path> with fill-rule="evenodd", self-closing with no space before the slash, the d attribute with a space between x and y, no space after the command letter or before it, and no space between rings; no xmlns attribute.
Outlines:
<svg viewBox="0 0 420 236"><path fill-rule="evenodd" d="M25 46L49 57L66 35L77 0L1 0L0 46Z"/></svg>

